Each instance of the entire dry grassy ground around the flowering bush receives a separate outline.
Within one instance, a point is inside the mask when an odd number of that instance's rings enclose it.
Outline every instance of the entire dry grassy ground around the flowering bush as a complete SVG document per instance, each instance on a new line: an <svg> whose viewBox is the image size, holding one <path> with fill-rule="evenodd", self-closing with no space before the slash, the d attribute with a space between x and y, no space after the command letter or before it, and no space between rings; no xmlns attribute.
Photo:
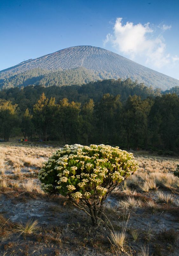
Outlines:
<svg viewBox="0 0 179 256"><path fill-rule="evenodd" d="M108 197L100 227L40 189L57 147L0 144L0 256L177 256L179 159L134 152L139 170Z"/></svg>

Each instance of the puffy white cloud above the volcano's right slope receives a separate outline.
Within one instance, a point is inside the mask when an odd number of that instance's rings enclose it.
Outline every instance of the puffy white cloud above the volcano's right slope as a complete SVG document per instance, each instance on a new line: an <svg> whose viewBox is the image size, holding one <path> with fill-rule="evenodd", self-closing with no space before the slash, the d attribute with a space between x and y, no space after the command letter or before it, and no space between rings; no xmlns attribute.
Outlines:
<svg viewBox="0 0 179 256"><path fill-rule="evenodd" d="M162 29L171 26L163 25ZM178 56L170 56L166 53L166 44L162 35L154 37L154 30L150 24L122 24L122 18L117 18L113 27L113 33L107 34L104 44L111 43L119 53L128 55L133 60L142 58L144 63L160 68L169 63L178 61Z"/></svg>

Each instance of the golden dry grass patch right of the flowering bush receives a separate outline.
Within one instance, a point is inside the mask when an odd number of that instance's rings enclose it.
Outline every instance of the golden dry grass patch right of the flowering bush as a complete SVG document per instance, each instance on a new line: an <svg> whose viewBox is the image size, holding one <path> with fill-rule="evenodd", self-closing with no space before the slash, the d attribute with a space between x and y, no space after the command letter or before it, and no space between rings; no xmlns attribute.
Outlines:
<svg viewBox="0 0 179 256"><path fill-rule="evenodd" d="M159 187L170 190L179 188L179 179L173 175L178 163L177 159L145 158L138 155L136 158L141 163L140 168L127 179L127 186L135 187L143 192L158 190Z"/></svg>

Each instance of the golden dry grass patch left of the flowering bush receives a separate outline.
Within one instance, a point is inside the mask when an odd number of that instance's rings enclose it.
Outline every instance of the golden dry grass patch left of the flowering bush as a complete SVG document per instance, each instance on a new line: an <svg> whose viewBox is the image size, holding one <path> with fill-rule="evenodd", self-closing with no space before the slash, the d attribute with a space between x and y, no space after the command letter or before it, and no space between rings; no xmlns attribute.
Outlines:
<svg viewBox="0 0 179 256"><path fill-rule="evenodd" d="M38 193L43 193L39 185L34 186L33 179L37 177L38 168L43 166L45 157L50 156L53 151L54 148L1 144L0 187L6 188L10 184L13 188L23 187L28 192L35 189Z"/></svg>

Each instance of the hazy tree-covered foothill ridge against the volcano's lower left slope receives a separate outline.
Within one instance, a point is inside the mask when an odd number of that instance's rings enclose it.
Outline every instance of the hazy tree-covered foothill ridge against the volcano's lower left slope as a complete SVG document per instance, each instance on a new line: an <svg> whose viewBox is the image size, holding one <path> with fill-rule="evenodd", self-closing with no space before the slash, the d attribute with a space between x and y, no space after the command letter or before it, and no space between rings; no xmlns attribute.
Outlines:
<svg viewBox="0 0 179 256"><path fill-rule="evenodd" d="M9 89L14 87L25 87L27 85L43 84L49 86L81 85L90 81L112 78L107 72L97 72L84 67L76 69L31 69L20 74L9 75L8 77L0 76L0 88Z"/></svg>

